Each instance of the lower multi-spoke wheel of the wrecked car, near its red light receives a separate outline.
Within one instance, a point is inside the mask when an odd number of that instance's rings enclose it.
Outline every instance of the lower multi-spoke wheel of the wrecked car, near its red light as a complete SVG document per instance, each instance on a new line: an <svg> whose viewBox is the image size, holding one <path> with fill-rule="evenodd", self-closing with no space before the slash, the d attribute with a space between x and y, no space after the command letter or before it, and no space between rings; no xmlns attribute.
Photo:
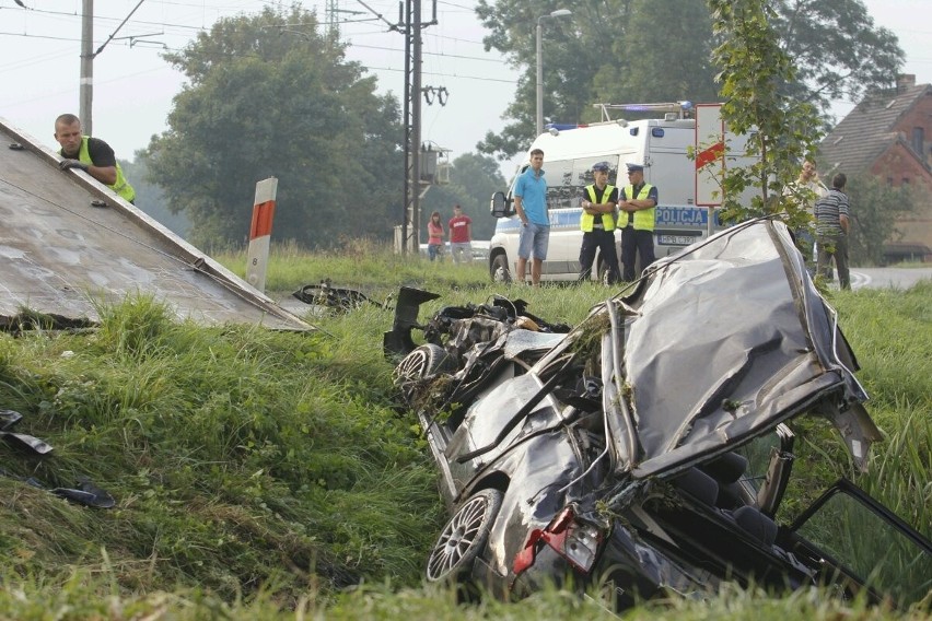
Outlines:
<svg viewBox="0 0 932 621"><path fill-rule="evenodd" d="M429 582L468 577L473 562L489 540L489 530L502 506L499 490L482 490L461 506L440 534L428 558Z"/></svg>

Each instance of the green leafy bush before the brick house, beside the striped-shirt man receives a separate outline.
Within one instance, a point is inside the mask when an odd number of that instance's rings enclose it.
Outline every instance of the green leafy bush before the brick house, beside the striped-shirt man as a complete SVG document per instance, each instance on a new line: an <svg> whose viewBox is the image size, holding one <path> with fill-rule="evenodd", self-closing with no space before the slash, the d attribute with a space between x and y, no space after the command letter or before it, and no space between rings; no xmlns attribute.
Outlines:
<svg viewBox="0 0 932 621"><path fill-rule="evenodd" d="M883 265L884 245L902 238L897 219L916 208L914 190L888 186L870 174L851 177L844 189L851 202L851 262Z"/></svg>

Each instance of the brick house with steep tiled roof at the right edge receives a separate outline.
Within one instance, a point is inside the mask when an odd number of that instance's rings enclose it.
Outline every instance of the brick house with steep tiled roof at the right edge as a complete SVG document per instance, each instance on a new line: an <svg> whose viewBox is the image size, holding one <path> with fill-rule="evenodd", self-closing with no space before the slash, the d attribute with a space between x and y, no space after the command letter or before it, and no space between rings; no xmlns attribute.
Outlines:
<svg viewBox="0 0 932 621"><path fill-rule="evenodd" d="M932 84L901 75L897 87L866 97L819 145L819 172L864 172L889 186L911 184L917 210L897 221L902 237L888 244L893 259L932 260Z"/></svg>

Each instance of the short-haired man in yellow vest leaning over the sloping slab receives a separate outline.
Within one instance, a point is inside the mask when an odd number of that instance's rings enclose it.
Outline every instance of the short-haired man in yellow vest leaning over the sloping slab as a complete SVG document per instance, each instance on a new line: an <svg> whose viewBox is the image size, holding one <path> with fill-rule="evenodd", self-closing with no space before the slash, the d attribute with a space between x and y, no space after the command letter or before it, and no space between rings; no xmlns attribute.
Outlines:
<svg viewBox="0 0 932 621"><path fill-rule="evenodd" d="M58 164L59 168L80 168L125 200L136 200L136 190L123 175L114 150L98 138L84 136L81 131L81 119L70 114L59 116L55 119L55 139L61 144L58 154L65 157Z"/></svg>

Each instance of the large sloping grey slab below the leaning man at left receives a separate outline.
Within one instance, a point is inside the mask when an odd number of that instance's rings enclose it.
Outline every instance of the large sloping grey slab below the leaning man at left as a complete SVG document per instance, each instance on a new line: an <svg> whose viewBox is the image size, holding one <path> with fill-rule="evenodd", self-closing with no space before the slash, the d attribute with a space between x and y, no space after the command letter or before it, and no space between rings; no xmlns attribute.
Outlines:
<svg viewBox="0 0 932 621"><path fill-rule="evenodd" d="M152 295L179 319L313 329L86 173L59 171L58 161L0 119L0 318L28 308L97 320L101 304Z"/></svg>

